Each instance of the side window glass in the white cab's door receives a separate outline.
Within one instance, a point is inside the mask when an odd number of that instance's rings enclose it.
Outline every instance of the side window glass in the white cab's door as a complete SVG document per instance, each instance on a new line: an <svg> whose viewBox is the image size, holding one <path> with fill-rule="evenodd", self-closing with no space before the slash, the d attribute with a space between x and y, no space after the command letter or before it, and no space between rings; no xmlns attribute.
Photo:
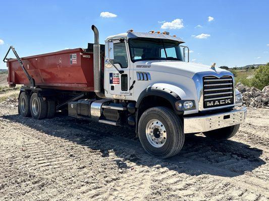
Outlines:
<svg viewBox="0 0 269 201"><path fill-rule="evenodd" d="M113 63L118 63L121 68L128 67L127 52L125 43L115 43L114 44L114 60Z"/></svg>

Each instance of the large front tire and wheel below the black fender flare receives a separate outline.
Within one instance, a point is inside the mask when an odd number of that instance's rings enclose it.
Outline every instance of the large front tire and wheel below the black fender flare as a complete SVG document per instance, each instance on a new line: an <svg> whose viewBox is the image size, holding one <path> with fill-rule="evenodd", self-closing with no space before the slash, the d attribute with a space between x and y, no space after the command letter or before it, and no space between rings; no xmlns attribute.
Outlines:
<svg viewBox="0 0 269 201"><path fill-rule="evenodd" d="M138 136L146 152L158 158L176 155L185 140L182 121L166 107L150 108L142 114Z"/></svg>

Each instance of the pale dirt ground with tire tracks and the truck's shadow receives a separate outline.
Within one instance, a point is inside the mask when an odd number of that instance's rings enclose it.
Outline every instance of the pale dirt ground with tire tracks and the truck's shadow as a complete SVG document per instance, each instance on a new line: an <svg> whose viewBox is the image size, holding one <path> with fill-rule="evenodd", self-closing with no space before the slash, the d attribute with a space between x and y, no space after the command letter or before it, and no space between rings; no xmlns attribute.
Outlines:
<svg viewBox="0 0 269 201"><path fill-rule="evenodd" d="M249 109L222 143L188 135L160 160L130 130L0 104L0 200L268 200L268 112Z"/></svg>

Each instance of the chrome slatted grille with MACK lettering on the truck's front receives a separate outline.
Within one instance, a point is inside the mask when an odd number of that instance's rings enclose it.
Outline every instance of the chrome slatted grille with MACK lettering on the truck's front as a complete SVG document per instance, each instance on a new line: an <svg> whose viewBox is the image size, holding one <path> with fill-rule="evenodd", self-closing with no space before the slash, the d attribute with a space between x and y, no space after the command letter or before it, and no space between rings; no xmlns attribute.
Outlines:
<svg viewBox="0 0 269 201"><path fill-rule="evenodd" d="M234 83L232 76L203 77L203 108L234 104Z"/></svg>

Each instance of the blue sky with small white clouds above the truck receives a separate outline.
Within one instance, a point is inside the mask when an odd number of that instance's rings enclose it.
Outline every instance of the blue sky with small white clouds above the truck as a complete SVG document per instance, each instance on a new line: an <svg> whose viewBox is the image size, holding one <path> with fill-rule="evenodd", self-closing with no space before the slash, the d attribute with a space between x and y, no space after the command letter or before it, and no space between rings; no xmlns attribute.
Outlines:
<svg viewBox="0 0 269 201"><path fill-rule="evenodd" d="M22 57L86 47L93 42L92 24L100 42L131 28L169 31L186 42L190 60L197 63L234 67L269 62L266 0L3 1L1 7L0 68L6 68L2 60L10 45Z"/></svg>

